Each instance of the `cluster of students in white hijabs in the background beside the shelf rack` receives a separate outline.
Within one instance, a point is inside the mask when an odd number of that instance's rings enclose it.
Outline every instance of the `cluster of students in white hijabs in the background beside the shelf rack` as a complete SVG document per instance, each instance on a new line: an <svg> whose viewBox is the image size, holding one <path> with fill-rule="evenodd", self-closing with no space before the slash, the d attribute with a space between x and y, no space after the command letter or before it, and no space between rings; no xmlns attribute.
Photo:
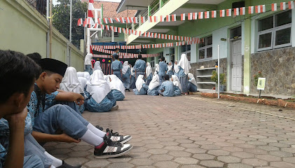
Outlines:
<svg viewBox="0 0 295 168"><path fill-rule="evenodd" d="M137 60L137 62L141 61L141 59ZM161 57L159 64L156 64L153 75L149 62L146 65L146 73L137 76L136 88L133 89L136 95L147 94L151 96L162 95L164 97L174 97L198 91L193 74L188 72L191 69L191 65L185 54L181 55L178 64L175 61L174 65L172 62L166 64L165 58Z"/></svg>

